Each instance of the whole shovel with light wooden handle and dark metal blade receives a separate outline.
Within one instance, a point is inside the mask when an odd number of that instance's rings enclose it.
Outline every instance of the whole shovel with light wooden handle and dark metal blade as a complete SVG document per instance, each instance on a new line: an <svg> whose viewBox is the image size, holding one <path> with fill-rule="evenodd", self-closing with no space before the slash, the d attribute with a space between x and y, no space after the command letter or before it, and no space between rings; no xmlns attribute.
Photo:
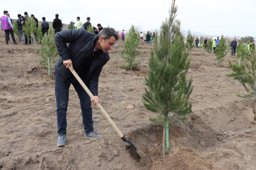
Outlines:
<svg viewBox="0 0 256 170"><path fill-rule="evenodd" d="M85 91L87 92L87 94L89 95L89 97L91 97L91 99L95 99L94 95L92 95L91 91L89 90L89 88L87 88L87 86L85 85L85 83L83 82L83 80L81 80L81 78L79 77L79 75L76 73L76 71L72 71L72 69L69 67L71 73L74 75L74 77L76 78L77 81L79 81L79 83L81 84L81 86L85 89ZM106 117L106 119L109 121L109 123L111 124L111 126L113 127L113 129L115 129L115 131L117 132L117 134L119 135L119 137L121 137L121 139L126 142L126 145L128 146L128 148L132 148L132 150L134 150L134 152L139 156L139 158L141 158L141 156L143 155L143 152L137 150L137 148L132 144L132 142L130 142L128 139L126 139L126 137L124 137L123 133L118 129L117 125L115 125L115 122L113 122L113 120L111 119L111 117L109 116L109 114L106 113L106 111L103 109L103 107L100 105L100 103L97 103L97 106L100 108L100 111L102 112L102 114L104 114L104 116Z"/></svg>

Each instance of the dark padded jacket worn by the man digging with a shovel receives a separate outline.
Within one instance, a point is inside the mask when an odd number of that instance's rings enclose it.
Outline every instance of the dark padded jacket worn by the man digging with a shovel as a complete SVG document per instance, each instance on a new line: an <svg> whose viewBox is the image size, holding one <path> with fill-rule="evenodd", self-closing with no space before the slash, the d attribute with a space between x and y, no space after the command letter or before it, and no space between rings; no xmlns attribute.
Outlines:
<svg viewBox="0 0 256 170"><path fill-rule="evenodd" d="M98 96L98 78L102 67L109 61L108 52L94 52L97 39L97 35L84 29L68 29L55 36L56 47L61 56L55 64L55 72L63 82L72 78L70 70L63 65L63 61L71 59L74 70L94 96Z"/></svg>

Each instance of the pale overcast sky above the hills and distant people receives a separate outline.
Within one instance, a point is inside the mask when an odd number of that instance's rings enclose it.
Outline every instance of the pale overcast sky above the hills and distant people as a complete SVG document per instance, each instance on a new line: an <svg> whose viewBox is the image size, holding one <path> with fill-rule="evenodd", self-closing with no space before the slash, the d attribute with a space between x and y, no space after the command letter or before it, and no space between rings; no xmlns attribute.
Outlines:
<svg viewBox="0 0 256 170"><path fill-rule="evenodd" d="M143 31L158 29L169 16L171 0L129 0L129 1L85 1L85 0L11 0L1 1L0 12L8 10L11 18L28 12L38 20L46 17L53 21L55 14L63 23L71 20L76 23L80 16L86 22L102 27L128 30L133 24ZM177 19L181 20L182 30L195 31L205 35L253 36L256 37L256 0L176 0Z"/></svg>

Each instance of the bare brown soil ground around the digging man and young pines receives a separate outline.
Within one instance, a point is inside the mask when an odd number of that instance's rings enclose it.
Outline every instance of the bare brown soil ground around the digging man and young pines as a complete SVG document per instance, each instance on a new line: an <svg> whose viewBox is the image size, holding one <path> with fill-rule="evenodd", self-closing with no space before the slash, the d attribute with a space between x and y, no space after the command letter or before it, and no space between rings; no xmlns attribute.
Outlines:
<svg viewBox="0 0 256 170"><path fill-rule="evenodd" d="M170 151L162 158L162 128L143 106L144 77L152 45L140 44L136 71L119 68L123 42L110 53L100 75L100 103L124 135L145 153L135 158L94 107L101 139L85 139L79 98L70 88L67 146L57 148L55 76L48 77L33 45L5 45L0 34L0 169L255 169L256 128L253 99L231 73L227 54L216 67L214 54L193 49L188 78L193 77L193 113L170 130ZM40 48L40 46L38 46Z"/></svg>

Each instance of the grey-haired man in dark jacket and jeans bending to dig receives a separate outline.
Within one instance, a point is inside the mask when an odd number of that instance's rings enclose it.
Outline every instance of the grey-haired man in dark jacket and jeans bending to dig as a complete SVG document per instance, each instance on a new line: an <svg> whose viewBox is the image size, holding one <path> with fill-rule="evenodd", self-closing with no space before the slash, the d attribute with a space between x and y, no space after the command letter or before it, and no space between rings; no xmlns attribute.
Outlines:
<svg viewBox="0 0 256 170"><path fill-rule="evenodd" d="M59 60L55 63L55 97L57 104L57 146L66 146L66 112L68 107L68 92L70 84L79 95L85 137L102 137L94 131L91 102L96 105L98 98L98 79L102 67L109 61L109 50L113 49L118 39L113 28L105 28L95 35L84 29L68 29L55 36L55 43L59 52ZM68 46L67 46L68 44ZM96 98L90 99L81 84L74 78L70 69L76 71Z"/></svg>

